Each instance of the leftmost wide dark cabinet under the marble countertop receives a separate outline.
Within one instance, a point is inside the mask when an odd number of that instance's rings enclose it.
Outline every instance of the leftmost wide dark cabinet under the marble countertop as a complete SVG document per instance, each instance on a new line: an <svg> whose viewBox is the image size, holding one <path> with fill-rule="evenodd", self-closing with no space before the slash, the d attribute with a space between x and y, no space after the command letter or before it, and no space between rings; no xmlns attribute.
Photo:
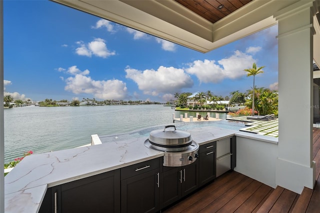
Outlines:
<svg viewBox="0 0 320 213"><path fill-rule="evenodd" d="M120 212L120 171L48 188L40 213Z"/></svg>

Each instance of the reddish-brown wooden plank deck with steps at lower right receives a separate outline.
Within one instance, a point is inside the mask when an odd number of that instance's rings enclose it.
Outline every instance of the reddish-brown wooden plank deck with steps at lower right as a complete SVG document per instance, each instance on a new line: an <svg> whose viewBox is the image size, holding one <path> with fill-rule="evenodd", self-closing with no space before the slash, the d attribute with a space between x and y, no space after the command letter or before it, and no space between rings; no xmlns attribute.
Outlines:
<svg viewBox="0 0 320 213"><path fill-rule="evenodd" d="M313 129L314 190L298 195L273 189L237 172L228 172L164 210L164 213L318 213L320 212L320 129Z"/></svg>

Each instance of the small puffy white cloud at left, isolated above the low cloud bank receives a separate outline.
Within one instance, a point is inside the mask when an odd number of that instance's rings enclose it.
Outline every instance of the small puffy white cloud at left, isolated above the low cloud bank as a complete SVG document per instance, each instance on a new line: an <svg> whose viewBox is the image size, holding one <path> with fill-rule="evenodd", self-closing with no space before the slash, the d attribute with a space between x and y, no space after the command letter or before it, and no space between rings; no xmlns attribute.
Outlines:
<svg viewBox="0 0 320 213"><path fill-rule="evenodd" d="M102 58L115 55L115 51L109 51L106 47L105 41L101 38L95 38L87 45L85 45L83 41L77 41L76 44L79 45L79 47L75 49L75 52L78 55L91 57L93 54Z"/></svg>

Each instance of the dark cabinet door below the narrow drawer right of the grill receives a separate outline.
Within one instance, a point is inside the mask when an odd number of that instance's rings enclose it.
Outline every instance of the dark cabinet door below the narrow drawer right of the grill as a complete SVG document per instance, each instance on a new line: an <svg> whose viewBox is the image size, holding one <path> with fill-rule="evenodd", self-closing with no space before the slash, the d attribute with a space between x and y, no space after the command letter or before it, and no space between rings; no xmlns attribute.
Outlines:
<svg viewBox="0 0 320 213"><path fill-rule="evenodd" d="M199 187L215 179L215 150L199 155Z"/></svg>

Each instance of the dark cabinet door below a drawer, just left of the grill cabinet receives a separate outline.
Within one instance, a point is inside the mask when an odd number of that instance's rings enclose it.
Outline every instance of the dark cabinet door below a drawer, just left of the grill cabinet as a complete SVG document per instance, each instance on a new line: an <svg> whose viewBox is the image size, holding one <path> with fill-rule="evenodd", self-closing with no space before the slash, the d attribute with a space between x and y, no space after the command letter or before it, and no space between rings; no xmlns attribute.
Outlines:
<svg viewBox="0 0 320 213"><path fill-rule="evenodd" d="M159 169L121 181L121 213L159 210Z"/></svg>

